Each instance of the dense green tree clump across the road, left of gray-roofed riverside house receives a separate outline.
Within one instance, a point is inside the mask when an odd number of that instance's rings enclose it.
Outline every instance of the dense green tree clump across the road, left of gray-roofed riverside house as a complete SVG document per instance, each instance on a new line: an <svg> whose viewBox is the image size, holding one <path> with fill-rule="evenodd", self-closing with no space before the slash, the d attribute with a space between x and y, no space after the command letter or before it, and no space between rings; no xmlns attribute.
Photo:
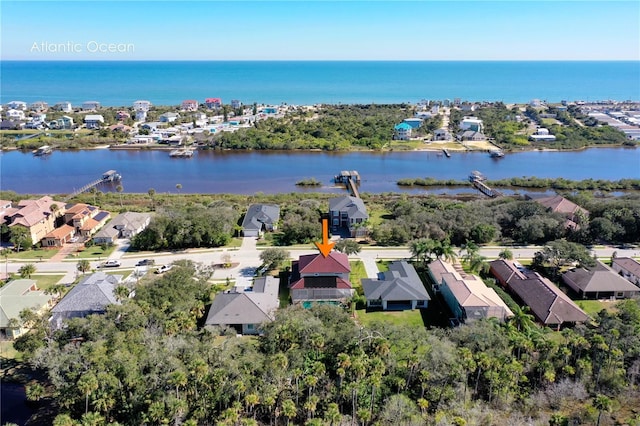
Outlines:
<svg viewBox="0 0 640 426"><path fill-rule="evenodd" d="M131 246L136 250L219 247L231 240L237 221L238 213L224 205L163 209Z"/></svg>

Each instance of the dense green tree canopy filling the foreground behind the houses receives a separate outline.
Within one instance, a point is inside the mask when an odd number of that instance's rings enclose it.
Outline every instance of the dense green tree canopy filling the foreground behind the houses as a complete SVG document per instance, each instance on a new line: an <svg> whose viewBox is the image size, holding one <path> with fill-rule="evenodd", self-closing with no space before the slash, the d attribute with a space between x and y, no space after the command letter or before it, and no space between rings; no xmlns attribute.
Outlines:
<svg viewBox="0 0 640 426"><path fill-rule="evenodd" d="M184 264L105 315L69 321L25 353L46 373L28 392L45 385L54 424L587 424L608 416L603 398L618 420L640 421L629 410L640 403L635 300L562 332L520 309L505 324L426 329L290 307L240 339L196 327L204 278Z"/></svg>

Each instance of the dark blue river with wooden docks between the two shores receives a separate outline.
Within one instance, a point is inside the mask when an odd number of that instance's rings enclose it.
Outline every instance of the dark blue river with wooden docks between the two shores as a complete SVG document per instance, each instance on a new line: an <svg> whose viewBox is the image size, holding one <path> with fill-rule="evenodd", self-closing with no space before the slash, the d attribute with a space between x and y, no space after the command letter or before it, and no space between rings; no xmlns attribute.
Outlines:
<svg viewBox="0 0 640 426"><path fill-rule="evenodd" d="M158 150L54 151L34 157L18 151L0 154L0 189L18 193L70 193L115 169L124 192L238 193L344 192L332 178L341 170L357 170L361 192L462 193L464 188L402 188L402 178L464 180L472 170L489 179L537 176L572 180L640 178L640 149L590 148L582 151L528 151L494 159L487 153L198 151L192 158L170 158ZM295 183L316 178L322 187ZM115 185L101 191L115 191ZM508 193L508 192L507 192Z"/></svg>

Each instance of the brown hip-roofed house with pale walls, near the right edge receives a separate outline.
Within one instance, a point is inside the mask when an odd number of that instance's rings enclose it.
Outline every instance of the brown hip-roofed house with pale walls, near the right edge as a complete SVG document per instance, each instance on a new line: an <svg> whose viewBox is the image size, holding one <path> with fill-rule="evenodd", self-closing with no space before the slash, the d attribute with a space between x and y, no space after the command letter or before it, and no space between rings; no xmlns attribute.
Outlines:
<svg viewBox="0 0 640 426"><path fill-rule="evenodd" d="M640 295L640 288L599 260L596 266L565 272L562 281L583 299L626 299Z"/></svg>

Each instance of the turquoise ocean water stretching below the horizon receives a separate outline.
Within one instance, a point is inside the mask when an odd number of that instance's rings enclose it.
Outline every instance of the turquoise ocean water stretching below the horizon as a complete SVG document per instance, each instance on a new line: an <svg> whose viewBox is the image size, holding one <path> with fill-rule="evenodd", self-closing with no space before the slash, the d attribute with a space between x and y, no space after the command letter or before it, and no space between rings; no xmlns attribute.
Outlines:
<svg viewBox="0 0 640 426"><path fill-rule="evenodd" d="M639 61L1 61L0 102L639 100Z"/></svg>

